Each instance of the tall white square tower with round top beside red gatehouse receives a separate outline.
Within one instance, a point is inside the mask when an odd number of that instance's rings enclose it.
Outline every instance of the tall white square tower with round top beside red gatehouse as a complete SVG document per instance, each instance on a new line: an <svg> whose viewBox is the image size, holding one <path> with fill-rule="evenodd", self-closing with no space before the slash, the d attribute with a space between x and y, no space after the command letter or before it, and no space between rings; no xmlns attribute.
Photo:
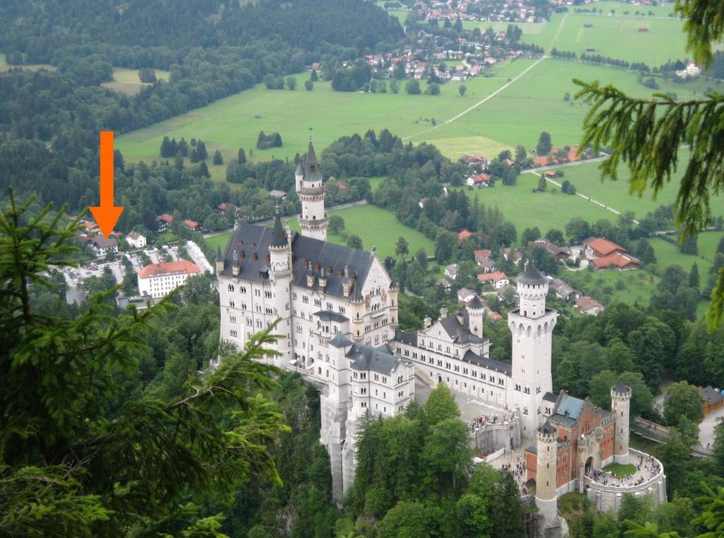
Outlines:
<svg viewBox="0 0 724 538"><path fill-rule="evenodd" d="M558 317L545 307L548 279L531 266L518 276L520 304L508 314L513 336L513 372L508 386L509 401L521 413L521 434L534 437L542 423L543 396L553 390L551 348L553 327Z"/></svg>

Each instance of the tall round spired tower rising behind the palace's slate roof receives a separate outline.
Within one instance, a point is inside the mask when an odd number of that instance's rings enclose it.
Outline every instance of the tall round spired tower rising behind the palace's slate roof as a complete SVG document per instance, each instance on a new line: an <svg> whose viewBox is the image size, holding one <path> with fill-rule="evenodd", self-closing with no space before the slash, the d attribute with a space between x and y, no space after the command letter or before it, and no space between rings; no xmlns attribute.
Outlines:
<svg viewBox="0 0 724 538"><path fill-rule="evenodd" d="M299 217L302 235L326 241L329 217L324 213L324 182L321 180L319 163L311 140L307 154L298 164L294 177L297 196L302 204L302 214Z"/></svg>

